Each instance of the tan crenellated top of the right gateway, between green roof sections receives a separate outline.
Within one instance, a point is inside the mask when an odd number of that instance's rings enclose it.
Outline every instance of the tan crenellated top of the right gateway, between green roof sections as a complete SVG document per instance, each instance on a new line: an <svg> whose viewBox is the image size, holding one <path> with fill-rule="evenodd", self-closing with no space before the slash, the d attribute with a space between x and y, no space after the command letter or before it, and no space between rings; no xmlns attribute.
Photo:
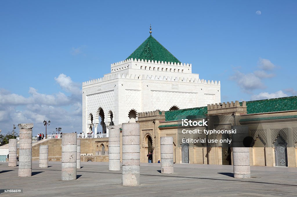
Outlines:
<svg viewBox="0 0 297 197"><path fill-rule="evenodd" d="M208 104L207 105L207 114L208 115L219 115L219 114L246 114L247 113L247 104L246 101L242 101L241 104L239 101L219 103L219 104Z"/></svg>

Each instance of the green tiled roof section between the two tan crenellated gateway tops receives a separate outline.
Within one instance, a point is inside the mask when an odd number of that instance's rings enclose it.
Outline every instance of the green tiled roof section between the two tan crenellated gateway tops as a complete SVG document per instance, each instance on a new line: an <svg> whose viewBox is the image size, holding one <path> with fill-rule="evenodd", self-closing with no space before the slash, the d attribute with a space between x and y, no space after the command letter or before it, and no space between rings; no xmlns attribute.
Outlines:
<svg viewBox="0 0 297 197"><path fill-rule="evenodd" d="M165 112L165 121L176 121L181 119L205 118L207 107L196 107L189 109L178 109Z"/></svg>

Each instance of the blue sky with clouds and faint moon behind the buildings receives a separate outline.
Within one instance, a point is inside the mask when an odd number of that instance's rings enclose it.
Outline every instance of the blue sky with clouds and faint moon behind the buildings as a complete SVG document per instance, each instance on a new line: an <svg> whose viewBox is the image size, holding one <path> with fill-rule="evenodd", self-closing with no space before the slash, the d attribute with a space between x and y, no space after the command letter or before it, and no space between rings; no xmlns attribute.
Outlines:
<svg viewBox="0 0 297 197"><path fill-rule="evenodd" d="M221 101L297 94L297 1L0 1L0 129L81 132L81 83L152 35ZM260 11L260 12L257 12ZM257 12L257 13L256 13ZM295 89L294 89L295 88Z"/></svg>

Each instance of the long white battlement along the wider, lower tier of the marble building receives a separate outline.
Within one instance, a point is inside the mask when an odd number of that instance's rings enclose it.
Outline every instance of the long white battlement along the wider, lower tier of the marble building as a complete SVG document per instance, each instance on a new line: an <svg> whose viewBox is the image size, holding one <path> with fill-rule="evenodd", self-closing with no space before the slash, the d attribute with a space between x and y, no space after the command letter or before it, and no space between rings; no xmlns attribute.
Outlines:
<svg viewBox="0 0 297 197"><path fill-rule="evenodd" d="M213 80L204 80L198 78L186 78L186 77L170 77L170 76L161 76L161 75L128 75L123 74L110 74L105 77L89 80L83 82L83 86L100 83L103 81L108 81L111 79L136 79L136 80L160 80L160 81L177 81L177 82L191 82L191 83L204 83L208 85L221 85L220 81Z"/></svg>

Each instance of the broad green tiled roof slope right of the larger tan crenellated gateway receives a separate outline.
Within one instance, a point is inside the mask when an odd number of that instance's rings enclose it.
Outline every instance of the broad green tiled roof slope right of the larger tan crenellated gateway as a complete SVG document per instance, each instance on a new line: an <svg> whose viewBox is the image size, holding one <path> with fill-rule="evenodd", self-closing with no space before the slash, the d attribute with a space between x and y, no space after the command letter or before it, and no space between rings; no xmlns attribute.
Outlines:
<svg viewBox="0 0 297 197"><path fill-rule="evenodd" d="M297 110L297 96L247 101L247 113L282 112Z"/></svg>

